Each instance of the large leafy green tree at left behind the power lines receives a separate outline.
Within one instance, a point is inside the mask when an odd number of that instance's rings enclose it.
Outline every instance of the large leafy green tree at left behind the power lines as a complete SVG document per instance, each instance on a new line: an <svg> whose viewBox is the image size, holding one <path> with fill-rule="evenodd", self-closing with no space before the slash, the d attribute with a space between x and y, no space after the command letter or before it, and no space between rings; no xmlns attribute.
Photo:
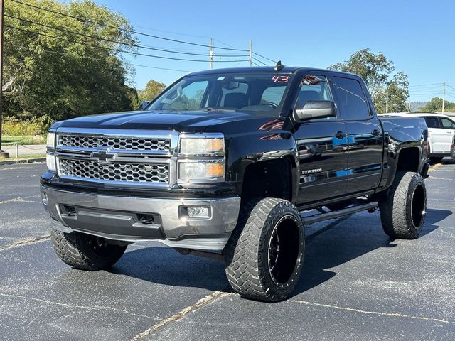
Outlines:
<svg viewBox="0 0 455 341"><path fill-rule="evenodd" d="M23 1L85 20L5 1L7 115L26 112L55 120L132 109L137 97L129 86L132 69L118 52L134 52L137 43L132 33L121 30L132 29L127 19L90 0Z"/></svg>

